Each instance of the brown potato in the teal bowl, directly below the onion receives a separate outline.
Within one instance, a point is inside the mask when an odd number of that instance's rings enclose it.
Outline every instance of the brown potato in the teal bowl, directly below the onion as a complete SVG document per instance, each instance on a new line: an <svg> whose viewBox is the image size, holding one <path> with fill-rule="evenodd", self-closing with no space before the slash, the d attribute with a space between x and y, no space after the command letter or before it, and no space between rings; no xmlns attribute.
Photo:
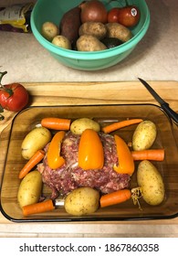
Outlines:
<svg viewBox="0 0 178 256"><path fill-rule="evenodd" d="M107 29L105 25L100 22L88 21L79 27L79 36L91 35L100 40L106 37L106 33Z"/></svg>

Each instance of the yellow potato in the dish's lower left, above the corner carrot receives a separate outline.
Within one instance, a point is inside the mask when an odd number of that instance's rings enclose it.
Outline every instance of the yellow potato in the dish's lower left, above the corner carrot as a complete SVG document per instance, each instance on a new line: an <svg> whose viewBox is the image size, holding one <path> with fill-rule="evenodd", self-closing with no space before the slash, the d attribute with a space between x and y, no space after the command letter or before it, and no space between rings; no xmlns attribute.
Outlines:
<svg viewBox="0 0 178 256"><path fill-rule="evenodd" d="M42 176L35 170L28 173L21 181L17 193L20 208L39 201L42 189Z"/></svg>

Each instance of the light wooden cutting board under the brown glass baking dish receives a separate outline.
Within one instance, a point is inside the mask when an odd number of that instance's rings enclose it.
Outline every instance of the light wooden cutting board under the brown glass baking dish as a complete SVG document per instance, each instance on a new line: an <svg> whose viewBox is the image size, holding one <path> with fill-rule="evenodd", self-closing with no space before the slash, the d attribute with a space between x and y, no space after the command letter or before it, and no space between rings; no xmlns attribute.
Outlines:
<svg viewBox="0 0 178 256"><path fill-rule="evenodd" d="M152 88L167 102L175 112L178 112L178 82L177 81L149 81ZM121 103L155 103L152 95L139 81L114 81L114 82L24 82L29 91L31 106L52 105L87 105L87 104L121 104ZM0 178L3 176L5 163L5 148L7 146L8 129L5 127L12 123L15 112L4 112L5 120L0 123ZM177 131L177 126L173 125ZM5 130L4 130L5 129ZM178 144L178 133L176 140ZM10 223L0 213L0 224ZM178 224L178 218L152 221L127 221L122 223L139 224Z"/></svg>

